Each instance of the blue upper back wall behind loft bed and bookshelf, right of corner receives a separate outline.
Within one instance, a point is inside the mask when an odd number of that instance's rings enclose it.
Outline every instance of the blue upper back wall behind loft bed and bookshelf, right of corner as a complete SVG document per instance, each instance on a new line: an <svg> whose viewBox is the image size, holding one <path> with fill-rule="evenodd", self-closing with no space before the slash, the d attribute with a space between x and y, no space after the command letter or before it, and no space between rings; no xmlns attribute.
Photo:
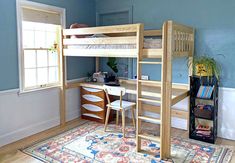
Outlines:
<svg viewBox="0 0 235 163"><path fill-rule="evenodd" d="M133 7L133 22L146 29L160 29L165 20L196 28L195 54L207 54L222 65L221 85L235 87L235 1L227 0L96 0L96 11L106 12ZM187 61L173 63L173 81L187 82ZM134 74L135 74L135 69ZM159 67L145 67L143 73L159 79Z"/></svg>

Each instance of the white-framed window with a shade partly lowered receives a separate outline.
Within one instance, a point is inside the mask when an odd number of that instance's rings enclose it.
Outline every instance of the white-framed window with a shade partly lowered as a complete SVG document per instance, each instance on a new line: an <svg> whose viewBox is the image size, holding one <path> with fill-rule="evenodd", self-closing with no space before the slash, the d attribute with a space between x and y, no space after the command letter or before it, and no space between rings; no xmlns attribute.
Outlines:
<svg viewBox="0 0 235 163"><path fill-rule="evenodd" d="M58 86L64 10L20 1L18 12L21 91Z"/></svg>

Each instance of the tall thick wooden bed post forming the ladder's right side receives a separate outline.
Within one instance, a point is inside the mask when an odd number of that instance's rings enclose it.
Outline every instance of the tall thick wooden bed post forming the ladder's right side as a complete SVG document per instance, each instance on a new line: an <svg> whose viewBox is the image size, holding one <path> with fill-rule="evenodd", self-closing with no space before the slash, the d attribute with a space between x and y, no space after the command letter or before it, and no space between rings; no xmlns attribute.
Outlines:
<svg viewBox="0 0 235 163"><path fill-rule="evenodd" d="M163 25L163 56L162 56L162 86L161 86L161 129L160 158L171 155L171 98L172 98L172 50L173 25L167 21Z"/></svg>

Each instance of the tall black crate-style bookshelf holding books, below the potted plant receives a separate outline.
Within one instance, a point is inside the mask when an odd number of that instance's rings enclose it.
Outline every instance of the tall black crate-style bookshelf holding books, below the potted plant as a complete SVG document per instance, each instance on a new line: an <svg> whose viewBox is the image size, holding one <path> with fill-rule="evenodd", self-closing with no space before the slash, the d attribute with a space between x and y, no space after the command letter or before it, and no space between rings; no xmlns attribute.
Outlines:
<svg viewBox="0 0 235 163"><path fill-rule="evenodd" d="M200 86L214 86L210 98L197 97ZM199 105L207 105L210 110L198 109ZM197 126L200 122L208 123L210 136L198 134ZM208 143L215 143L218 123L218 80L215 77L190 77L190 126L189 138Z"/></svg>

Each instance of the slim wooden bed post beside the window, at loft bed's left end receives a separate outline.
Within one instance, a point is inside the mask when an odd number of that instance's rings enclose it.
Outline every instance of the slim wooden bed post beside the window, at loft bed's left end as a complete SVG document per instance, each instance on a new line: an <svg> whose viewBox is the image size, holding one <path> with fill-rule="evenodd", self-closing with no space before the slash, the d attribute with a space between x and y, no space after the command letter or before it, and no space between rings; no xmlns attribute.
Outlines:
<svg viewBox="0 0 235 163"><path fill-rule="evenodd" d="M61 52L60 52L60 125L66 122L66 64L63 50L63 30L61 30Z"/></svg>

